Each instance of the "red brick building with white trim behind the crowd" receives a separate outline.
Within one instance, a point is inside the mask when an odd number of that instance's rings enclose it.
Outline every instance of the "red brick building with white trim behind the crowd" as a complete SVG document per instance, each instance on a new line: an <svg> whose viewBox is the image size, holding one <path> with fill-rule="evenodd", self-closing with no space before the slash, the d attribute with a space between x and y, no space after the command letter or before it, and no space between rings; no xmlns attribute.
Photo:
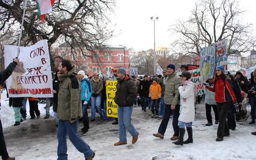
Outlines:
<svg viewBox="0 0 256 160"><path fill-rule="evenodd" d="M61 44L53 51L53 57L63 57L71 60L76 66L76 71L84 70L86 74L91 76L94 72L101 72L108 75L113 68L123 67L126 73L129 73L129 50L124 46L118 48L106 48L101 50L94 50L92 52L84 51L76 48L76 51L71 52L71 48L66 44ZM86 55L86 56L85 56ZM56 64L60 58L54 58Z"/></svg>

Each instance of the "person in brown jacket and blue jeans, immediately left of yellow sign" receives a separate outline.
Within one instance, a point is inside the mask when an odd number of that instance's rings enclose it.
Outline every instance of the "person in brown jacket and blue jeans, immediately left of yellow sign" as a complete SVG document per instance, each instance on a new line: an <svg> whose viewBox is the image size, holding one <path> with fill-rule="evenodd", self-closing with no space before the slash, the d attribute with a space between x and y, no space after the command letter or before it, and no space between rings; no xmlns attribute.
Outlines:
<svg viewBox="0 0 256 160"><path fill-rule="evenodd" d="M101 92L103 90L103 82L99 79L99 73L95 72L93 74L93 78L90 80L92 84L92 97L91 97L91 104L92 104L92 118L91 122L95 121L96 117L96 109L103 118L102 110L101 110Z"/></svg>

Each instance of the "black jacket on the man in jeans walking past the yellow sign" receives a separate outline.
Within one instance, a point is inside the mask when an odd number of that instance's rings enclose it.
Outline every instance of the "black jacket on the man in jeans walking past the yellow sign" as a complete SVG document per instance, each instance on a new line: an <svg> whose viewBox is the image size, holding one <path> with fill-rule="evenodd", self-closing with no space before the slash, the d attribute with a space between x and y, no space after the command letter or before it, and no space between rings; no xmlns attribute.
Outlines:
<svg viewBox="0 0 256 160"><path fill-rule="evenodd" d="M115 103L119 106L132 106L136 98L136 84L126 75L116 84Z"/></svg>

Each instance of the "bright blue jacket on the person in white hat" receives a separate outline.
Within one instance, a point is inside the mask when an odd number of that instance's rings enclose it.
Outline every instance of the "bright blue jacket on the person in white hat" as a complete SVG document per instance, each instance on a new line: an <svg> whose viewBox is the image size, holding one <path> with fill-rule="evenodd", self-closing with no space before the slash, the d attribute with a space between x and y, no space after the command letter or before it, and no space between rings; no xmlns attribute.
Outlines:
<svg viewBox="0 0 256 160"><path fill-rule="evenodd" d="M81 100L89 102L92 96L92 85L88 79L82 79L81 81Z"/></svg>

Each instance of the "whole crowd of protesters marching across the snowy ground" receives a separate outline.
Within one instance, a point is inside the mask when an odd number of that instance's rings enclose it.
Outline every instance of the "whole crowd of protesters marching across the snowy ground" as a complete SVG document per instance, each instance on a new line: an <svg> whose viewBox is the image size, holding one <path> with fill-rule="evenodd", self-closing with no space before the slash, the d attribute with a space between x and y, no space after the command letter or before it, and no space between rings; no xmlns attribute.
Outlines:
<svg viewBox="0 0 256 160"><path fill-rule="evenodd" d="M12 74L18 58L9 64L7 69L0 73L0 82ZM142 112L150 111L152 118L162 120L158 132L153 136L163 139L170 117L172 117L172 128L174 134L171 137L175 145L193 143L192 123L195 117L195 104L197 101L197 87L191 79L188 67L180 67L181 74L175 72L175 65L169 64L163 70L163 75L144 75L136 77L129 75L124 68L114 68L112 76L104 76L97 72L92 76L86 75L83 70L75 72L75 67L69 60L62 60L53 79L53 98L46 98L46 116L49 118L50 106L58 115L58 159L67 159L66 135L72 144L86 159L92 159L95 153L90 146L77 134L79 120L83 122L82 133L87 133L90 121L96 121L96 112L101 117L100 121L107 121L107 80L117 80L115 103L118 104L118 118L113 125L119 125L119 141L115 146L127 144L126 129L132 135L132 144L138 140L138 131L131 123L133 106L141 106ZM205 126L213 125L211 110L214 110L215 124L218 124L216 141L224 140L229 136L229 129L236 129L236 112L238 108L245 110L245 116L239 121L248 118L246 106L251 105L252 121L255 123L255 100L256 100L256 70L248 79L241 72L235 75L226 74L225 68L216 67L215 76L207 79L205 86L205 112L207 123ZM10 106L13 106L15 124L26 120L26 102L29 100L30 119L39 118L38 98L19 97L9 98ZM91 107L91 117L88 116L88 108ZM187 129L188 139L183 140ZM252 134L256 135L256 132ZM9 157L3 137L2 124L0 120L0 155L3 159L14 159Z"/></svg>

